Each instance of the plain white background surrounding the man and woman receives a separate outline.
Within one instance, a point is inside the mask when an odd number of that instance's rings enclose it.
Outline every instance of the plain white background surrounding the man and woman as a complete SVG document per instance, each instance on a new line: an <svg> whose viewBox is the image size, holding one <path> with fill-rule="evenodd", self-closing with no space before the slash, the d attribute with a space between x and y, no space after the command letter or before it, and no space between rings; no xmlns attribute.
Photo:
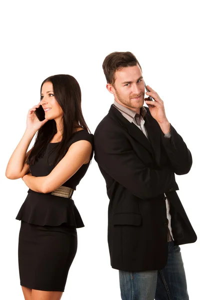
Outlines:
<svg viewBox="0 0 200 300"><path fill-rule="evenodd" d="M197 1L4 1L0 5L0 298L22 299L17 264L26 197L21 179L4 176L25 129L27 110L39 101L50 75L68 73L79 82L82 110L92 132L107 113L104 57L131 51L143 77L164 100L168 120L193 156L191 171L176 176L178 195L199 235L199 14ZM110 267L105 183L94 160L73 199L85 227L63 299L119 300L118 271ZM190 300L198 298L199 241L181 246Z"/></svg>

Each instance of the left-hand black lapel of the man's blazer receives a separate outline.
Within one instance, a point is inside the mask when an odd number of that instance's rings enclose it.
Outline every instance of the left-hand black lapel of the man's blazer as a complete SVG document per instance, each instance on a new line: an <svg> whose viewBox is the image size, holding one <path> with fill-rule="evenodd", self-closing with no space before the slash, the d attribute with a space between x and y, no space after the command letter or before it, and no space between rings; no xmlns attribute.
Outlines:
<svg viewBox="0 0 200 300"><path fill-rule="evenodd" d="M153 150L149 140L134 123L130 123L113 105L111 105L109 109L109 115L115 120L117 120L121 124L121 126L123 126L126 129L126 131L133 139L136 139L153 155Z"/></svg>

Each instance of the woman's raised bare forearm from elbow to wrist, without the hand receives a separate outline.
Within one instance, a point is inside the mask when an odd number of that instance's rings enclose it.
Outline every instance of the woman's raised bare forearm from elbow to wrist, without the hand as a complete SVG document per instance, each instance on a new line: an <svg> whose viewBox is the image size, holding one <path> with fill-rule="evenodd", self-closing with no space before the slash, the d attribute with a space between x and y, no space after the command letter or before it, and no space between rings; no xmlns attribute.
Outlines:
<svg viewBox="0 0 200 300"><path fill-rule="evenodd" d="M5 171L5 176L9 179L20 178L22 170L24 168L24 162L27 159L28 154L26 155L27 148L35 134L33 130L25 130L21 140L13 151ZM25 166L28 170L28 166Z"/></svg>

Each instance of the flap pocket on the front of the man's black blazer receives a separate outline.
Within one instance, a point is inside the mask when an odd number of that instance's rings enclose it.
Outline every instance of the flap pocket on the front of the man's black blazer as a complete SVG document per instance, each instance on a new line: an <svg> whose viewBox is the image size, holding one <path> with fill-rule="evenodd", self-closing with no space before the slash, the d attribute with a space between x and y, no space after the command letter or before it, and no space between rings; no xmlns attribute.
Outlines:
<svg viewBox="0 0 200 300"><path fill-rule="evenodd" d="M134 225L141 224L141 214L133 212L115 213L113 215L113 225Z"/></svg>

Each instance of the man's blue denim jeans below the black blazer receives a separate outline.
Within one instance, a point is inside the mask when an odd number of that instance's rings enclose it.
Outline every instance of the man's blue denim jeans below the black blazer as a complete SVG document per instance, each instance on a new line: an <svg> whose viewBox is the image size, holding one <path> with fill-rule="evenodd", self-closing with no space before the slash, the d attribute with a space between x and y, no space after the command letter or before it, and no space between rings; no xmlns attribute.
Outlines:
<svg viewBox="0 0 200 300"><path fill-rule="evenodd" d="M128 272L119 270L122 300L188 300L180 247L168 242L166 266L161 270Z"/></svg>

